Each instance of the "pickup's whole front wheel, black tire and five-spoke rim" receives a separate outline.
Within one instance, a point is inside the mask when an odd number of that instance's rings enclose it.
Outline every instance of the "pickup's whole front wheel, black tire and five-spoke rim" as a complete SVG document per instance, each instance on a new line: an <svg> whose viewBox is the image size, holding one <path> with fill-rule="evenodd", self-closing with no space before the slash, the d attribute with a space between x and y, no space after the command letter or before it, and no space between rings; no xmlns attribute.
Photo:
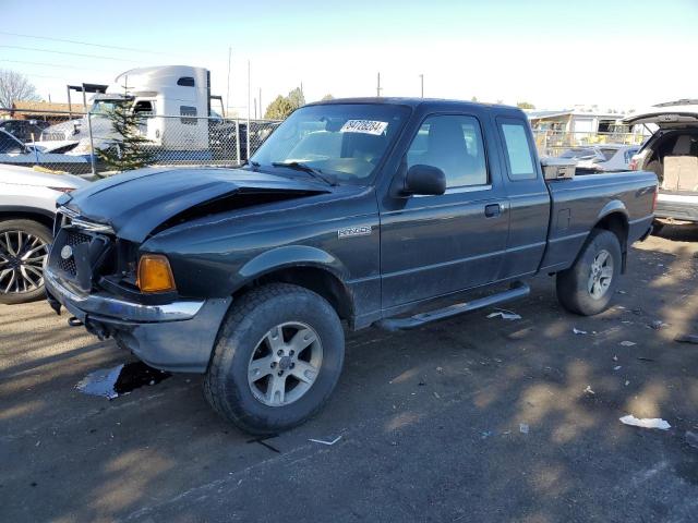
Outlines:
<svg viewBox="0 0 698 523"><path fill-rule="evenodd" d="M204 392L222 417L252 434L308 419L339 379L345 339L335 309L288 283L253 289L228 313Z"/></svg>

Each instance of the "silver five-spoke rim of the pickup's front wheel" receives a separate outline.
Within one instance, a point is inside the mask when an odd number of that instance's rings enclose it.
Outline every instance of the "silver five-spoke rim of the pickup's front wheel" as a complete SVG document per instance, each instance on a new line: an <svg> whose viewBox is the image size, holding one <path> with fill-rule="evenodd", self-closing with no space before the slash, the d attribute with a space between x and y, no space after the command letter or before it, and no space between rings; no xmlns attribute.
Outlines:
<svg viewBox="0 0 698 523"><path fill-rule="evenodd" d="M317 379L323 345L306 324L287 321L270 328L257 342L248 365L254 398L267 406L286 406L301 399Z"/></svg>

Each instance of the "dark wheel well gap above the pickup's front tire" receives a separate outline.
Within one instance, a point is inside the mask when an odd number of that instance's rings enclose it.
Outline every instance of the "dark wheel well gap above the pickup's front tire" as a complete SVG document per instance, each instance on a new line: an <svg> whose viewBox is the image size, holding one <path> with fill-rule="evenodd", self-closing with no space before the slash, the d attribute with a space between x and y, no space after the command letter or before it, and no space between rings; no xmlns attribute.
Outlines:
<svg viewBox="0 0 698 523"><path fill-rule="evenodd" d="M309 289L323 296L341 319L350 320L353 316L353 306L349 290L335 275L318 267L287 267L274 270L256 278L251 283L238 289L236 295L246 292L254 287L273 282L292 283Z"/></svg>

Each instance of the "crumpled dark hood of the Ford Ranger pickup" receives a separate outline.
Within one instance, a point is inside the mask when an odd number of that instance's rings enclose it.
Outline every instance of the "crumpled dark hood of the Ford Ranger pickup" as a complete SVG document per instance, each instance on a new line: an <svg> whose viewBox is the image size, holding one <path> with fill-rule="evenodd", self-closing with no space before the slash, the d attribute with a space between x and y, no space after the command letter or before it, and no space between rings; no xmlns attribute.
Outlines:
<svg viewBox="0 0 698 523"><path fill-rule="evenodd" d="M255 191L312 195L328 187L242 169L141 169L92 183L63 205L111 226L124 240L142 243L158 226L193 207Z"/></svg>

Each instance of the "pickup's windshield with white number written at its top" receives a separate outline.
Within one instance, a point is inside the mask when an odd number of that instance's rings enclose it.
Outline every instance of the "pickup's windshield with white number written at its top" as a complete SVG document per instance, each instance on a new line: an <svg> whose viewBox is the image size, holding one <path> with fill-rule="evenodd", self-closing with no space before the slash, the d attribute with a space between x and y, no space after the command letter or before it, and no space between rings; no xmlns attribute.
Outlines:
<svg viewBox="0 0 698 523"><path fill-rule="evenodd" d="M338 182L365 184L408 115L406 107L380 104L303 107L279 125L251 162L280 169L281 163L301 163Z"/></svg>

